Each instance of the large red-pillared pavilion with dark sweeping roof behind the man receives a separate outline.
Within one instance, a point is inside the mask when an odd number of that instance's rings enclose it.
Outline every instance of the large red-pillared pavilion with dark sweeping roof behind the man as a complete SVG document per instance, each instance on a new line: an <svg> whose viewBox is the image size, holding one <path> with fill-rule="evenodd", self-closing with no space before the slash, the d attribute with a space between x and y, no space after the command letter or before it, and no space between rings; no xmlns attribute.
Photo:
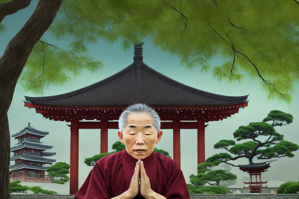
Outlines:
<svg viewBox="0 0 299 199"><path fill-rule="evenodd" d="M25 96L25 107L46 119L71 123L70 194L78 191L79 129L101 129L100 153L108 152L108 129L118 129L117 120L127 106L145 103L159 114L161 129L173 129L173 159L179 165L180 129L197 129L199 164L205 161L206 123L229 118L248 104L248 95L209 93L155 71L143 62L142 44L134 45L131 65L102 81L61 95Z"/></svg>

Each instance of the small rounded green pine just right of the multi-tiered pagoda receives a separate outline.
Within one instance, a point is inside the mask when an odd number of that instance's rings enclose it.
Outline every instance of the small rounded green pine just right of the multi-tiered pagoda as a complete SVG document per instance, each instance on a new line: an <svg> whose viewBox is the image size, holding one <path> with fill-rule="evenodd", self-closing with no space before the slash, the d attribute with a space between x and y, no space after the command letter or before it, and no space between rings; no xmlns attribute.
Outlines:
<svg viewBox="0 0 299 199"><path fill-rule="evenodd" d="M65 162L57 162L56 164L48 167L47 172L48 175L53 177L53 183L64 184L69 182L69 174L70 165ZM55 177L57 179L55 179Z"/></svg>

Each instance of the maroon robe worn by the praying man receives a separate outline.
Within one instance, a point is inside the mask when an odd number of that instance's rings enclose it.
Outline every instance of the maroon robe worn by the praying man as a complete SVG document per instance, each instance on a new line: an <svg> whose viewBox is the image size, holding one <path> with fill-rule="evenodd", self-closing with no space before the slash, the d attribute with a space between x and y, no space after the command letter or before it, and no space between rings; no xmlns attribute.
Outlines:
<svg viewBox="0 0 299 199"><path fill-rule="evenodd" d="M125 150L96 162L75 199L110 199L128 190L136 160ZM181 168L173 159L152 152L143 160L151 189L166 198L190 198ZM134 198L144 198L138 195Z"/></svg>

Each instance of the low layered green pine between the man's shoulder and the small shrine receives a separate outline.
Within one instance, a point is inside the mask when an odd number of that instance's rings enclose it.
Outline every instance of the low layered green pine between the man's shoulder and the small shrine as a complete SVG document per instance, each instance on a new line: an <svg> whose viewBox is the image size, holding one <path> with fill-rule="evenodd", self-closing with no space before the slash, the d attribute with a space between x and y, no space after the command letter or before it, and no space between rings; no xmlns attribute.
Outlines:
<svg viewBox="0 0 299 199"><path fill-rule="evenodd" d="M203 186L206 183L209 185L219 186L226 180L235 180L237 176L233 173L228 172L224 169L212 170L213 167L217 166L220 161L215 162L215 164L209 162L203 162L197 165L197 175L191 174L190 182L195 186ZM214 183L211 183L214 182Z"/></svg>

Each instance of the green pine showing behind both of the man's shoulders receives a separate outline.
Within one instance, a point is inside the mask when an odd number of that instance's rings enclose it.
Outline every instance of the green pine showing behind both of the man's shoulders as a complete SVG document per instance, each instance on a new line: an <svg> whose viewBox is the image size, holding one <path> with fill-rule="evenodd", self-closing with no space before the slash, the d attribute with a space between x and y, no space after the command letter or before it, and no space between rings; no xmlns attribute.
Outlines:
<svg viewBox="0 0 299 199"><path fill-rule="evenodd" d="M100 160L102 157L104 157L106 155L110 155L112 153L116 153L118 151L125 150L126 146L123 143L121 143L121 141L116 141L116 142L113 143L111 148L116 150L116 151L112 151L112 152L109 152L109 153L106 153L106 152L105 153L100 153L100 154L94 155L91 158L85 158L84 163L87 164L87 166L94 166L96 164L96 162L98 160ZM169 153L165 150L154 148L154 151L171 158L171 156L169 156Z"/></svg>

